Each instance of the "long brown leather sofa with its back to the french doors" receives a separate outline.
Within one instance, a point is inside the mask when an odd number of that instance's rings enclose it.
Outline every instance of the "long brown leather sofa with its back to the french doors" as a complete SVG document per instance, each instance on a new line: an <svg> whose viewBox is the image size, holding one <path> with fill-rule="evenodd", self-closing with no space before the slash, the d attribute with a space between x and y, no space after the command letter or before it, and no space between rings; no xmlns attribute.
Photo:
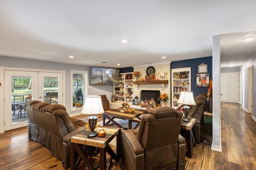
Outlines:
<svg viewBox="0 0 256 170"><path fill-rule="evenodd" d="M65 169L70 168L70 139L86 129L84 121L69 117L66 108L60 104L49 104L32 100L26 102L28 115L28 139L44 145L58 159ZM92 147L86 147L92 156Z"/></svg>

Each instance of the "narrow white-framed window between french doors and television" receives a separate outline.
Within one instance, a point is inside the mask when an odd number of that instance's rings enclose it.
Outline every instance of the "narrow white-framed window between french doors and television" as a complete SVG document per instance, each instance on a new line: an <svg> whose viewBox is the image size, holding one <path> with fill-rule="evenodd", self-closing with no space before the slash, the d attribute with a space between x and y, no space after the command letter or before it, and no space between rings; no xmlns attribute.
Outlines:
<svg viewBox="0 0 256 170"><path fill-rule="evenodd" d="M71 111L82 109L88 93L88 72L71 70Z"/></svg>

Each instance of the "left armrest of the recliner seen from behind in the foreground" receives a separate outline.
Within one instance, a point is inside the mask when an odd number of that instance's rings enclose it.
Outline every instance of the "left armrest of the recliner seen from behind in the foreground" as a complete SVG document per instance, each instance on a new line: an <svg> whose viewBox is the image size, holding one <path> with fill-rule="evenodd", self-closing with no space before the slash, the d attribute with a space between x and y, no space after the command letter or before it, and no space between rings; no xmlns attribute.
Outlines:
<svg viewBox="0 0 256 170"><path fill-rule="evenodd" d="M121 129L120 154L126 170L144 169L144 148L136 135L128 128Z"/></svg>

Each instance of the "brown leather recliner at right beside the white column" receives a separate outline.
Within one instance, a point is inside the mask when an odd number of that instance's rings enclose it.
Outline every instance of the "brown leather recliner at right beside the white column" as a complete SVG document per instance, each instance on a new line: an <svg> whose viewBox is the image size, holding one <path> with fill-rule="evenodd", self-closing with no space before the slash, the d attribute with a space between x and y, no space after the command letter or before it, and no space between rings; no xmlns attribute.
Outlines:
<svg viewBox="0 0 256 170"><path fill-rule="evenodd" d="M196 119L196 143L200 144L200 129L204 123L204 109L206 105L206 96L199 94L194 98L196 105L190 106L190 111L188 114L188 119ZM178 107L176 110L180 110L181 107Z"/></svg>

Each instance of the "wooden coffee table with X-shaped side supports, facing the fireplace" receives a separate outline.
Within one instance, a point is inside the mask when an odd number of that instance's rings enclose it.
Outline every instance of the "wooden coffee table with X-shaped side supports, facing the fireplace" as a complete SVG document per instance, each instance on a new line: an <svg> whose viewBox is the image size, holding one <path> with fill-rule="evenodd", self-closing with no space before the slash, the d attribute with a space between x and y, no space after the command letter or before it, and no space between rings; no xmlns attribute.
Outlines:
<svg viewBox="0 0 256 170"><path fill-rule="evenodd" d="M120 111L120 109L122 109L122 107L117 108L117 109L110 109L110 110L105 111L105 113L103 113L103 126L116 125L117 127L123 128L116 121L114 121L114 118L119 118L119 119L128 120L128 127L129 127L129 129L132 129L132 122L133 121L138 123L134 127L134 129L136 129L138 127L138 125L140 124L140 122L136 121L136 120L133 120L133 119L134 118L140 119L140 117L139 117L140 115L148 113L148 110L145 110L145 109L135 109L135 111L131 112L131 113L122 113ZM108 119L108 121L106 122L105 119Z"/></svg>

